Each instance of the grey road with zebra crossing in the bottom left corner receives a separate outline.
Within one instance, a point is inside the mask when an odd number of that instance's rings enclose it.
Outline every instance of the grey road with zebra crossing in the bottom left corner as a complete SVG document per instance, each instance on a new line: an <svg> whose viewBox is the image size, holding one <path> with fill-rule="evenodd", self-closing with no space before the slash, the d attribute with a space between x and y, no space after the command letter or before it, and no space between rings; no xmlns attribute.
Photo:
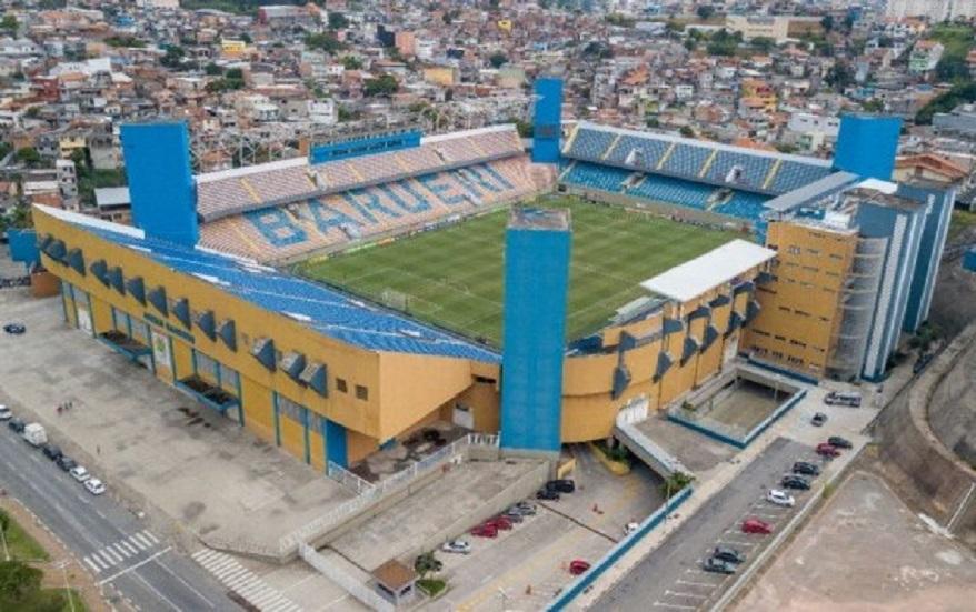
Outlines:
<svg viewBox="0 0 976 612"><path fill-rule="evenodd" d="M99 585L114 585L142 612L239 610L199 566L109 495L91 495L6 423L0 427L0 488L33 511Z"/></svg>

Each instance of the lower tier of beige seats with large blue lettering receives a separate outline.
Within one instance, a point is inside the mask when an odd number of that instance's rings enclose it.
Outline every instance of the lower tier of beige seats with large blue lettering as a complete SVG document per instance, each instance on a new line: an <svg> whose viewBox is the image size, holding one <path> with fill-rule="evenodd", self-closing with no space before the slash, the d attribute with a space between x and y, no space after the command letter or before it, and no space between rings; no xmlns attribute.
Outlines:
<svg viewBox="0 0 976 612"><path fill-rule="evenodd" d="M218 219L201 227L200 242L259 261L279 260L395 235L535 191L527 159L507 158Z"/></svg>

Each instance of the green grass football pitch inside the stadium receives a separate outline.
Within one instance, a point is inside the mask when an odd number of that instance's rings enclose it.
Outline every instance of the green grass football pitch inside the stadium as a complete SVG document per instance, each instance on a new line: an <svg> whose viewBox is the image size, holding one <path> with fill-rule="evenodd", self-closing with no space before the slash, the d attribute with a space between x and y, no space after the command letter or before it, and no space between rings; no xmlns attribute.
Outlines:
<svg viewBox="0 0 976 612"><path fill-rule="evenodd" d="M645 294L641 281L739 235L576 198L535 205L571 210L569 340L600 329L616 309ZM507 219L508 211L497 211L391 244L310 260L296 273L500 345ZM406 295L406 304L391 301L390 291Z"/></svg>

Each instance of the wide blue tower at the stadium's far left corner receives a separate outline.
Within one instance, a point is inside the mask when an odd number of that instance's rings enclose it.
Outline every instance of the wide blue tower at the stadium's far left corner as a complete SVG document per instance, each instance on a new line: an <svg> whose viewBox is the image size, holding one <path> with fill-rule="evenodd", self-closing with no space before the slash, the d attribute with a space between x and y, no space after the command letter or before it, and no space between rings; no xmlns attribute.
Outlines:
<svg viewBox="0 0 976 612"><path fill-rule="evenodd" d="M121 136L132 222L151 238L195 245L197 192L186 121L127 123Z"/></svg>

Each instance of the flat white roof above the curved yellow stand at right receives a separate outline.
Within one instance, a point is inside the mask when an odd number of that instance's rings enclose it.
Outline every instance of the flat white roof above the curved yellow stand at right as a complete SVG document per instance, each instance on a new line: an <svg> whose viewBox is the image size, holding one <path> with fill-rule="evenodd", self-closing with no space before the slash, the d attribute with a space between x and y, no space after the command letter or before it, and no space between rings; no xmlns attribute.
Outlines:
<svg viewBox="0 0 976 612"><path fill-rule="evenodd" d="M736 239L640 283L640 287L687 302L776 257L776 251Z"/></svg>

